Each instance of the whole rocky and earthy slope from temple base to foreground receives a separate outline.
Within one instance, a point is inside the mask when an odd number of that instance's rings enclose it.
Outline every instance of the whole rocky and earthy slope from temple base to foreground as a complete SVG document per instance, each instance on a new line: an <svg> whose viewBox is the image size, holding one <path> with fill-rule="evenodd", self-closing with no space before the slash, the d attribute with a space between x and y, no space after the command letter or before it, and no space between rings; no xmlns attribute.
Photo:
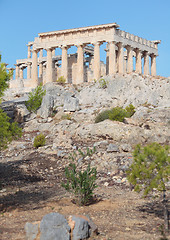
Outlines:
<svg viewBox="0 0 170 240"><path fill-rule="evenodd" d="M0 239L24 239L26 222L53 211L88 214L99 231L92 239L159 239L157 225L163 218L158 202L131 191L126 170L137 143L170 142L170 78L133 74L105 80L104 89L98 82L48 83L37 114L26 109L28 95L22 89L6 92L4 100L12 102L4 103L4 109L13 107L8 112L20 122L23 136L0 155ZM123 123L95 123L102 110L129 104L136 112ZM46 144L35 149L33 140L40 132ZM96 152L80 164L91 161L97 168L96 202L77 207L61 182L69 154L87 147Z"/></svg>

